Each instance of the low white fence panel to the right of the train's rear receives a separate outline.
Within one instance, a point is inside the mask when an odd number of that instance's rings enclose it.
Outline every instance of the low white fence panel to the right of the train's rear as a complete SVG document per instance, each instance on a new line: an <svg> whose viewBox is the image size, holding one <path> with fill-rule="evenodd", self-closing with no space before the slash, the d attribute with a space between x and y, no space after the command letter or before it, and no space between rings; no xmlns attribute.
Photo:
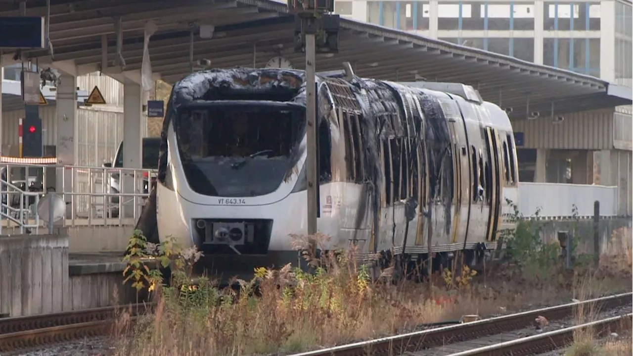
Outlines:
<svg viewBox="0 0 633 356"><path fill-rule="evenodd" d="M618 188L586 184L530 183L518 185L518 210L525 217L563 218L593 216L594 201L600 202L600 216L617 215ZM577 212L574 213L574 207Z"/></svg>

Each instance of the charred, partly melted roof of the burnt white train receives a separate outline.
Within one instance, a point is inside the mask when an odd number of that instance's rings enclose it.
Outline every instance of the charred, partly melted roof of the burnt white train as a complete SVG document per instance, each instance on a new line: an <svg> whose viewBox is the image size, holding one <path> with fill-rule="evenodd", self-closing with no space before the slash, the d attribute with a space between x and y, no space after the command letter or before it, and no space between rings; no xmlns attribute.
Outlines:
<svg viewBox="0 0 633 356"><path fill-rule="evenodd" d="M323 84L327 86L329 94L325 95L332 99L332 104L354 106L348 107L348 110L360 110L378 116L398 113L401 120L411 121L411 123L418 122L419 118L416 116L419 114L417 113L422 111L427 117L425 121L433 124L432 122L437 118L459 115L459 109L453 99L461 99L463 102L468 101L478 107L476 110L478 119L485 125L511 129L510 120L505 111L493 103L482 101L475 89L463 84L396 83L360 77L346 80L328 75L317 75L316 82L320 88L319 91L323 88ZM346 94L337 95L337 91L346 91ZM347 100L352 99L349 98L350 96L354 96L355 100ZM181 105L190 106L194 103L226 100L267 101L269 103L276 101L305 105L305 72L279 68L232 68L192 73L173 87L168 113ZM352 103L353 101L355 103ZM176 117L170 116L172 119ZM391 127L389 120L385 123L389 125L377 127L377 133L380 136L414 134L413 130L404 132L402 125ZM422 127L417 127L415 131L419 133L421 129Z"/></svg>

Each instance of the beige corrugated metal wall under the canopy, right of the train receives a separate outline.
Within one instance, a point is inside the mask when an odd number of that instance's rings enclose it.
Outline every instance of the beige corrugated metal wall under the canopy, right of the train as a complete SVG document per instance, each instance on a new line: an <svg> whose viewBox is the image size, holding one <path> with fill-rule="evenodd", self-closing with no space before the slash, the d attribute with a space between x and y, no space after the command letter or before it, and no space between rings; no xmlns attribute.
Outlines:
<svg viewBox="0 0 633 356"><path fill-rule="evenodd" d="M517 120L512 122L512 128L523 132L522 148L613 148L613 110L565 114L560 123L553 122L551 117Z"/></svg>

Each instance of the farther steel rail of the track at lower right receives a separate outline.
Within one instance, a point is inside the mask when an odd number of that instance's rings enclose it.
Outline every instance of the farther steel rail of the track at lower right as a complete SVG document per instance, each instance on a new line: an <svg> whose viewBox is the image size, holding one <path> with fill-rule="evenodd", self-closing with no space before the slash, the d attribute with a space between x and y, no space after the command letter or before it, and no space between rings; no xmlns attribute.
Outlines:
<svg viewBox="0 0 633 356"><path fill-rule="evenodd" d="M347 345L334 346L310 352L296 353L291 356L365 356L372 354L401 355L406 352L416 352L425 348L448 345L460 341L468 341L484 336L499 334L507 331L523 329L533 326L538 316L549 321L573 317L579 307L596 307L608 310L633 303L633 293L594 298L583 302L567 303L555 307L529 310L511 315L492 317L479 321L468 322L452 326L437 327L412 333L387 336L374 340L361 341Z"/></svg>

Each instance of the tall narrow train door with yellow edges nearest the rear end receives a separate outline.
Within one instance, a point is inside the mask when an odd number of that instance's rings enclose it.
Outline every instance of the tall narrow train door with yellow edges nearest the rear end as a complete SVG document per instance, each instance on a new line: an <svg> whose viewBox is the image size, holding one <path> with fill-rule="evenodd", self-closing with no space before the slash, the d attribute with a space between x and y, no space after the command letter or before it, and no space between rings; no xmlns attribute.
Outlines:
<svg viewBox="0 0 633 356"><path fill-rule="evenodd" d="M490 212L488 215L488 227L486 232L487 241L494 241L499 228L499 218L501 217L501 186L503 186L503 160L501 148L499 146L499 133L496 129L486 127L486 151L488 163L485 168L486 184L488 185L487 197L490 202Z"/></svg>

